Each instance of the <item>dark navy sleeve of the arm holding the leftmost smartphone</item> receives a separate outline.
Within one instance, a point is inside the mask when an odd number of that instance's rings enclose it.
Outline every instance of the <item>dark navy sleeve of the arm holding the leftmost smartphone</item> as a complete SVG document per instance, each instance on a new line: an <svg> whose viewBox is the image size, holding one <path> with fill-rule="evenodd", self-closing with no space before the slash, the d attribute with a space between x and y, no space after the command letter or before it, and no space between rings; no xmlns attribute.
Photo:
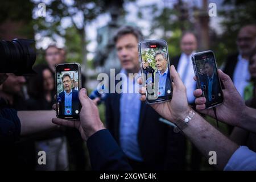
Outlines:
<svg viewBox="0 0 256 182"><path fill-rule="evenodd" d="M86 144L93 170L132 170L125 154L108 130L97 131L88 138Z"/></svg>

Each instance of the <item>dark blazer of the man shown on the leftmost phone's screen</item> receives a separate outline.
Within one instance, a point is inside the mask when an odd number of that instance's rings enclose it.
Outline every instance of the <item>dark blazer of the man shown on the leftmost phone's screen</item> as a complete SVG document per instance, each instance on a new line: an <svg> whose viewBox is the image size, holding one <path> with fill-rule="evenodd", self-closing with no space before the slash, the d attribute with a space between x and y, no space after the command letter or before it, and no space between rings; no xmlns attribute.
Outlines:
<svg viewBox="0 0 256 182"><path fill-rule="evenodd" d="M60 98L60 114L65 114L65 93L64 91L59 93L58 100ZM75 110L79 110L79 92L75 89L72 89L72 114L75 114Z"/></svg>

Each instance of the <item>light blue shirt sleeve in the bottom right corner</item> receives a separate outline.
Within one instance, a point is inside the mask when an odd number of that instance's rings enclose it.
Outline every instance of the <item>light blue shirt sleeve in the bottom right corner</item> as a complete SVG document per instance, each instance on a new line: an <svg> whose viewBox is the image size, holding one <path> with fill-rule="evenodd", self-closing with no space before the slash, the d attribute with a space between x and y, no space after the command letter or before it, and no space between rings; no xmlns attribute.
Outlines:
<svg viewBox="0 0 256 182"><path fill-rule="evenodd" d="M239 147L229 159L224 171L255 171L256 153L246 146Z"/></svg>

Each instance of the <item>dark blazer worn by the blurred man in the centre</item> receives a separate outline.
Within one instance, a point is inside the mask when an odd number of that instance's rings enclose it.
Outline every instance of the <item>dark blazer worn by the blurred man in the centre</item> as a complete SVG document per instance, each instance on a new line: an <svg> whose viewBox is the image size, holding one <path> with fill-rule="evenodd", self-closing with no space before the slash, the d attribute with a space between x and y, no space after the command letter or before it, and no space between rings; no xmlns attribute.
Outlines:
<svg viewBox="0 0 256 182"><path fill-rule="evenodd" d="M119 143L121 94L106 96L106 126ZM160 115L150 105L141 103L138 143L147 169L184 169L185 137L159 121Z"/></svg>

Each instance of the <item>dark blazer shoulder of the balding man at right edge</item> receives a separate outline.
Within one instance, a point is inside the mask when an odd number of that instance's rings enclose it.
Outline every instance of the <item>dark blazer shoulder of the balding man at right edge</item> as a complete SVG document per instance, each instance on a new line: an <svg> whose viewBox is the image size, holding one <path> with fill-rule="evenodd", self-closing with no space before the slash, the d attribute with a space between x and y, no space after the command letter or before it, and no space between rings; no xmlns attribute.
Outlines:
<svg viewBox="0 0 256 182"><path fill-rule="evenodd" d="M234 71L236 69L238 62L238 53L234 53L233 55L229 55L226 59L223 72L226 73L226 75L230 76L230 78L233 80Z"/></svg>

